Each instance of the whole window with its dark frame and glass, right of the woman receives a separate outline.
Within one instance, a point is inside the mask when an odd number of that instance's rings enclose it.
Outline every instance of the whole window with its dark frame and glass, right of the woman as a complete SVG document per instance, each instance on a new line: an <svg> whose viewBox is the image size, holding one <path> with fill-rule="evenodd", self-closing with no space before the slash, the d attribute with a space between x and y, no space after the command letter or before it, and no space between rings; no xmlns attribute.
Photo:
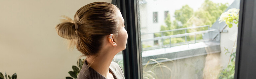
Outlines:
<svg viewBox="0 0 256 79"><path fill-rule="evenodd" d="M256 18L256 10L253 8L255 7L255 1L205 0L201 2L193 2L187 0L161 3L156 1L155 3L152 3L151 0L120 0L120 3L122 4L120 10L126 20L126 26L129 26L126 29L128 31L128 37L130 37L127 40L127 48L123 51L125 78L161 79L164 77L164 79L169 79L171 77L177 79L208 79L209 75L212 76L211 78L215 79L243 79L256 77L256 75L253 74L256 73L254 68L256 66L256 63L254 62L256 61L254 58L256 54L253 52L256 51L256 49L253 48L256 45L256 36L253 35L255 32L253 30L256 30L255 24L253 24ZM199 9L198 7L191 5L191 3L200 5L199 7L201 8ZM214 8L212 6L219 6L219 8ZM236 35L237 28L233 28L236 24L228 24L233 25L233 27L230 28L225 22L218 22L218 18L222 13L216 12L215 10L227 12L233 8L239 9L239 6L241 7L239 12L238 34ZM202 9L202 7L205 7L205 9ZM147 9L143 10L143 8ZM170 11L171 19L163 22L164 17L160 18L160 20L158 20L160 23L160 26L158 27L161 27L160 29L155 27L158 23L153 23L151 19L145 19L143 16L141 17L141 15L151 15L152 11L157 10L160 12L163 8L172 9L168 10ZM216 14L217 16L213 17L212 15L210 16L210 14ZM192 16L193 18L190 18ZM217 20L208 20L207 18ZM153 30L140 29L142 21L146 21L146 23L144 23L148 24L143 24L143 26L147 26L147 28ZM211 21L212 25L205 25L207 23L211 24ZM219 27L214 27L216 25ZM174 26L180 26L181 28ZM140 31L147 32L140 33ZM230 35L232 33L233 35ZM153 34L159 37L154 37ZM180 37L181 35L184 37ZM237 47L233 47L236 46L236 39L234 40L236 36ZM153 44L154 40L157 39L160 39L158 41L159 46L142 46L143 44ZM232 43L230 43L231 41ZM198 43L202 45L198 45ZM182 48L179 48L178 46ZM200 46L205 47L202 48ZM172 53L163 52L170 51L170 49L172 49ZM234 57L235 59L233 59ZM220 65L222 66L218 67ZM232 70L223 73L223 70L225 69ZM217 72L218 70L220 70L220 72Z"/></svg>

